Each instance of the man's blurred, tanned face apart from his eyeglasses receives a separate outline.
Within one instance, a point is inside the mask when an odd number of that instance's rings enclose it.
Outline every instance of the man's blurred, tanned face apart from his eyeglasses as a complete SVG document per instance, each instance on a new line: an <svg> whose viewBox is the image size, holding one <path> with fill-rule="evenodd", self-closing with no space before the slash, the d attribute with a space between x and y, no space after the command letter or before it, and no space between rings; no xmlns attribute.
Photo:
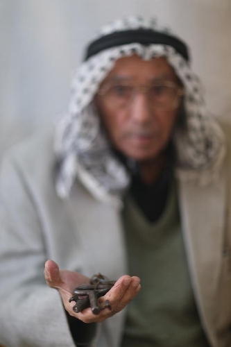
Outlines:
<svg viewBox="0 0 231 347"><path fill-rule="evenodd" d="M117 81L122 85L145 86L155 81L177 83L177 78L164 58L144 61L134 55L117 60L100 90L118 84ZM178 109L157 109L150 96L148 99L148 94L140 90L123 107L110 100L107 94L95 97L96 107L114 147L138 161L157 157L169 142Z"/></svg>

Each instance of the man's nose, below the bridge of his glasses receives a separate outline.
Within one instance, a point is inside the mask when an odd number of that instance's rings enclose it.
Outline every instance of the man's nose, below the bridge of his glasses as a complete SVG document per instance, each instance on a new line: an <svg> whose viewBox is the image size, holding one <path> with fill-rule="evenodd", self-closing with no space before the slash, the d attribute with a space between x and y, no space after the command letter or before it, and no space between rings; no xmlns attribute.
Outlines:
<svg viewBox="0 0 231 347"><path fill-rule="evenodd" d="M148 123L151 120L151 110L145 93L135 94L130 105L130 112L130 117L138 123Z"/></svg>

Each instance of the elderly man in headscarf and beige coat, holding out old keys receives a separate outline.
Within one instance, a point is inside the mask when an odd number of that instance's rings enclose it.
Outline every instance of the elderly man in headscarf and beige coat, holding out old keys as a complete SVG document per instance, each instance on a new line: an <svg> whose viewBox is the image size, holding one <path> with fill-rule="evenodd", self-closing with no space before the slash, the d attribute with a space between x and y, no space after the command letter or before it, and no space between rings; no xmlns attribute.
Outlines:
<svg viewBox="0 0 231 347"><path fill-rule="evenodd" d="M1 169L0 342L230 346L225 145L187 46L155 19L118 20L71 93L55 149L47 131ZM99 271L117 280L111 310L75 313Z"/></svg>

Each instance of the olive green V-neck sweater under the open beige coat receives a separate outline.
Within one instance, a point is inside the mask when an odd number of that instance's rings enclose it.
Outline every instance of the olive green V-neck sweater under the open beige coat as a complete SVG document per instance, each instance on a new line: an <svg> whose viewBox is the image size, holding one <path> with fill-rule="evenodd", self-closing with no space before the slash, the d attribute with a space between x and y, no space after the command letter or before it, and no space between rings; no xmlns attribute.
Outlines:
<svg viewBox="0 0 231 347"><path fill-rule="evenodd" d="M191 289L176 188L162 217L147 221L129 194L123 225L131 276L142 289L128 305L121 347L208 347Z"/></svg>

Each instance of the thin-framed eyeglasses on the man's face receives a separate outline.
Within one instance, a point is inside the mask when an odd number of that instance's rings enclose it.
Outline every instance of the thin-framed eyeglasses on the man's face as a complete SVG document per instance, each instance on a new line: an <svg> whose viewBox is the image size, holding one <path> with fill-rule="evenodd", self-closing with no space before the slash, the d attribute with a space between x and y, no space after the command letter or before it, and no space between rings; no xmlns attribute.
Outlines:
<svg viewBox="0 0 231 347"><path fill-rule="evenodd" d="M145 93L151 107L158 110L178 108L183 95L182 88L171 81L156 81L149 85L133 85L125 81L106 83L98 94L105 97L112 107L126 108L138 92Z"/></svg>

